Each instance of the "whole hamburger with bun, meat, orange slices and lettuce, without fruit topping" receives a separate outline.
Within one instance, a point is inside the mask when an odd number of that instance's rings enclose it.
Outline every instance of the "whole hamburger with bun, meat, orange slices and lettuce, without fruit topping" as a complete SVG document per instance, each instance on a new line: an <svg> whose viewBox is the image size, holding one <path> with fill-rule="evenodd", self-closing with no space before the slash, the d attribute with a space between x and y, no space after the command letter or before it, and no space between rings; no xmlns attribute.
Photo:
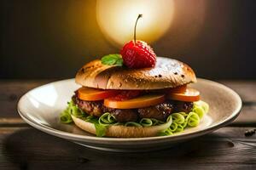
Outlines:
<svg viewBox="0 0 256 170"><path fill-rule="evenodd" d="M62 122L97 136L137 138L180 133L197 126L208 110L199 91L189 88L195 72L183 62L157 57L154 67L132 69L102 60L79 69L75 82L81 88Z"/></svg>

